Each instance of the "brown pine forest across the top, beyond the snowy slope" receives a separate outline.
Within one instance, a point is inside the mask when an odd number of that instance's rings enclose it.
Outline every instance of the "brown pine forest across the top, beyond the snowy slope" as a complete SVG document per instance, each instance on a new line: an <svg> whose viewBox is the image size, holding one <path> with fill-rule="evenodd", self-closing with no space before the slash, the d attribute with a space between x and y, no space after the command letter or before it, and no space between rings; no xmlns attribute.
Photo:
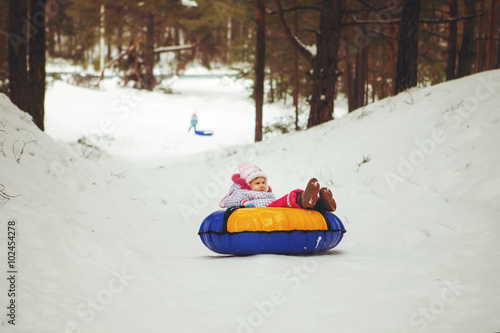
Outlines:
<svg viewBox="0 0 500 333"><path fill-rule="evenodd" d="M414 86L500 67L497 0L8 0L0 91L43 129L46 63L65 59L153 90L155 66L192 62L254 80L262 105L293 99L308 127ZM97 86L99 77L90 78ZM81 80L80 84L88 84ZM265 87L265 88L264 88ZM296 129L298 128L296 121Z"/></svg>

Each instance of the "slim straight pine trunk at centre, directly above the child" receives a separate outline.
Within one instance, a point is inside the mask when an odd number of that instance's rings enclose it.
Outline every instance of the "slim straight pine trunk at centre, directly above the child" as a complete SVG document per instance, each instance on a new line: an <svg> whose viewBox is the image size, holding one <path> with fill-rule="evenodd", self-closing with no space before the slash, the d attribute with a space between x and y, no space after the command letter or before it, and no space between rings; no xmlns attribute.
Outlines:
<svg viewBox="0 0 500 333"><path fill-rule="evenodd" d="M255 0L257 45L255 55L255 142L262 141L262 107L264 104L264 69L266 62L266 16L264 0Z"/></svg>

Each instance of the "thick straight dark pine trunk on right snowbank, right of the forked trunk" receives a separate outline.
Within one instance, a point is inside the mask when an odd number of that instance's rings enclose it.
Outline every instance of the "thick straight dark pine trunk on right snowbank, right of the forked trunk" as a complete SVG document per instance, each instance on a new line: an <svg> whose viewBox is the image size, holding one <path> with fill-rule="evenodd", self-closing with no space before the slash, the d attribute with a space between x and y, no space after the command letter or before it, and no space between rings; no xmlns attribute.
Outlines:
<svg viewBox="0 0 500 333"><path fill-rule="evenodd" d="M417 85L420 0L405 0L401 12L395 94Z"/></svg>

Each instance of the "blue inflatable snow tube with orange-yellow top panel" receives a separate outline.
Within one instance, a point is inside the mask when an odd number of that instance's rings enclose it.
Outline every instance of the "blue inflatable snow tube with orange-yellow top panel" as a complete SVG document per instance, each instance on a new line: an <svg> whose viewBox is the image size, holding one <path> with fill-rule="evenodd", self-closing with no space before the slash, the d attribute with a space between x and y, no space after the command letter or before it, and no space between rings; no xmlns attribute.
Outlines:
<svg viewBox="0 0 500 333"><path fill-rule="evenodd" d="M216 211L198 235L220 254L309 254L333 249L345 232L333 213L273 207Z"/></svg>

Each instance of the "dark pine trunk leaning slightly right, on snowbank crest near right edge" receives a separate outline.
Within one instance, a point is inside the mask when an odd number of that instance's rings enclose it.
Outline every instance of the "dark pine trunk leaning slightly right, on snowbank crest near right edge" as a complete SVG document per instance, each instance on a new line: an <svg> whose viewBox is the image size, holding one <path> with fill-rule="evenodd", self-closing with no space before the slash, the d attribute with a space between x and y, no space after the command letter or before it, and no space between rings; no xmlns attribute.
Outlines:
<svg viewBox="0 0 500 333"><path fill-rule="evenodd" d="M474 12L474 0L465 0L465 15L474 15ZM473 39L474 18L469 18L464 21L462 44L460 45L460 51L458 51L457 78L471 74L474 57Z"/></svg>

